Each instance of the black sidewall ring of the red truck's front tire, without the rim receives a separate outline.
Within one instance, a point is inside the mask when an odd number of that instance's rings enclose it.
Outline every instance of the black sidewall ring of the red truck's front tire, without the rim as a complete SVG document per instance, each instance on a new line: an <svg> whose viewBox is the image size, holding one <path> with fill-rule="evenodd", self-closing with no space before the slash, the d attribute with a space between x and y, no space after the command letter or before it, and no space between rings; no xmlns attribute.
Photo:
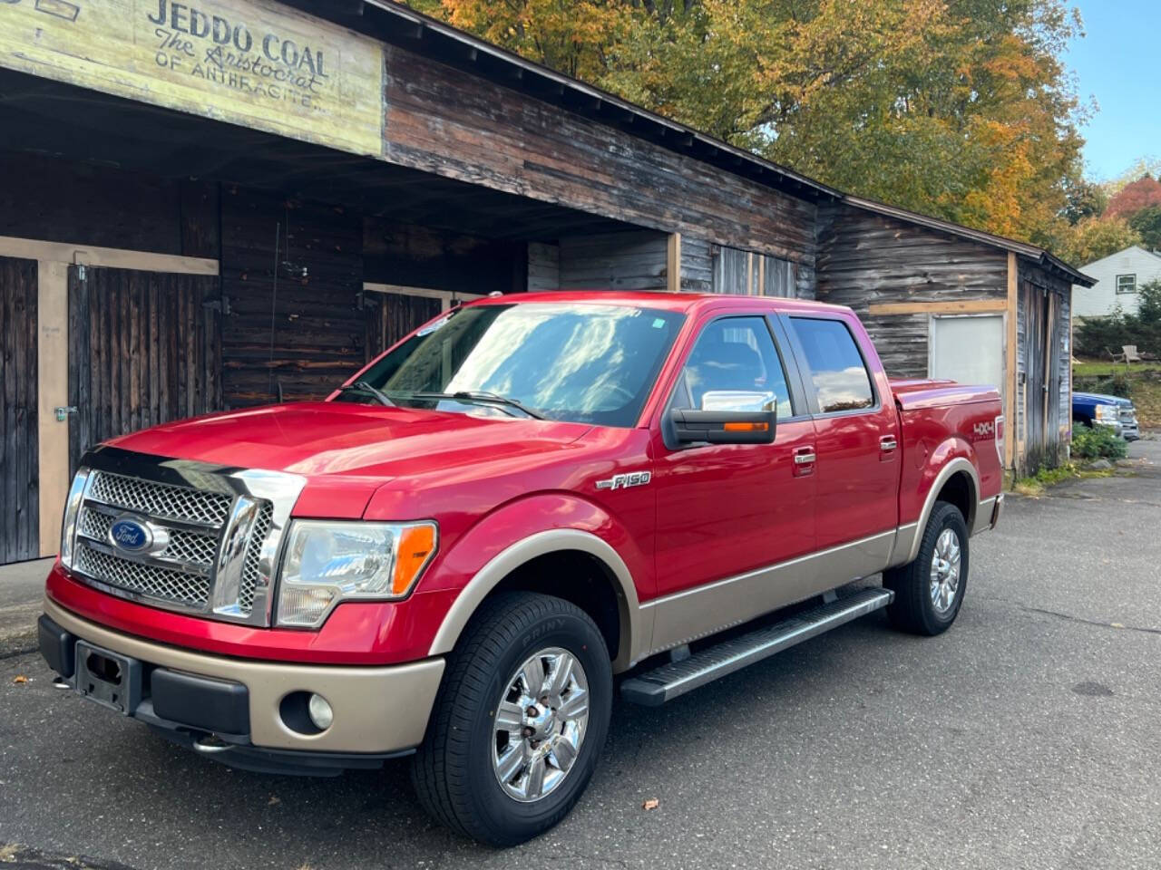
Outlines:
<svg viewBox="0 0 1161 870"><path fill-rule="evenodd" d="M533 803L512 798L492 769L496 705L509 688L506 681L532 654L560 647L580 662L589 682L589 723L580 752L568 776L548 796ZM604 639L587 619L572 614L551 614L527 625L490 665L483 702L470 713L466 775L478 817L499 839L522 842L558 821L572 807L592 777L608 734L613 679Z"/></svg>

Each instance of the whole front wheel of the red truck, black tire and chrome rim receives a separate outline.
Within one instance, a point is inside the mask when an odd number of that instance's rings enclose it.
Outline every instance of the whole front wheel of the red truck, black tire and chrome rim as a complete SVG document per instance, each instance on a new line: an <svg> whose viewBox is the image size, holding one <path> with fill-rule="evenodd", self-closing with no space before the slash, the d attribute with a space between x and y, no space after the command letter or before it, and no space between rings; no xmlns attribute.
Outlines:
<svg viewBox="0 0 1161 870"><path fill-rule="evenodd" d="M533 660L540 664L545 693L535 701L527 689L536 679ZM564 670L569 682L556 690L554 680ZM587 711L578 713L585 699ZM589 784L612 703L608 651L587 614L549 595L496 595L481 606L448 657L411 767L420 803L447 827L491 846L514 846L548 831ZM538 718L527 716L532 710ZM505 713L507 722L521 717L519 727L503 730ZM512 768L517 755L524 760ZM502 782L513 769L514 776Z"/></svg>

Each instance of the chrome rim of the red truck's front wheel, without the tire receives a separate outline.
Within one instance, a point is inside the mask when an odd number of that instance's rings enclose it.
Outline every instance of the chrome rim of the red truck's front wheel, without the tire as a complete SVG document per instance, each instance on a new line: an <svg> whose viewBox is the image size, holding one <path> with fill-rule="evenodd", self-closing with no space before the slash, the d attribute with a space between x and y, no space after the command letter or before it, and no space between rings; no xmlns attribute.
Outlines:
<svg viewBox="0 0 1161 870"><path fill-rule="evenodd" d="M496 709L492 770L510 797L550 795L569 775L589 725L589 680L572 653L541 650L512 674Z"/></svg>

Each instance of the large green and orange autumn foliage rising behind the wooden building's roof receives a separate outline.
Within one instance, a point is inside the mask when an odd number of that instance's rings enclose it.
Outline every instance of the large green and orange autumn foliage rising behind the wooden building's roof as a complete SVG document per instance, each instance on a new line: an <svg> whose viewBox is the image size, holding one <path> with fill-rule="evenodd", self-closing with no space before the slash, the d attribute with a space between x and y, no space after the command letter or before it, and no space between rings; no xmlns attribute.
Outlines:
<svg viewBox="0 0 1161 870"><path fill-rule="evenodd" d="M1093 208L1065 0L412 5L863 196L1046 246Z"/></svg>

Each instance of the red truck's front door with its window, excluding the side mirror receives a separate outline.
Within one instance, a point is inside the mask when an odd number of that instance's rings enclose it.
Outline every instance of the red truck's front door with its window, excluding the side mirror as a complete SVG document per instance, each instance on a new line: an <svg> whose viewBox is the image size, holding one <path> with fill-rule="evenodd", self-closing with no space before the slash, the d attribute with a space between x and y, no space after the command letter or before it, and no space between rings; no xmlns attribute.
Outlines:
<svg viewBox="0 0 1161 870"><path fill-rule="evenodd" d="M654 648L666 648L802 597L814 549L814 426L759 314L701 324L664 413L777 406L772 444L666 444L654 437L657 590ZM795 457L799 461L795 462ZM781 573L777 566L786 566ZM807 582L809 586L809 582ZM809 594L809 593L806 593Z"/></svg>

